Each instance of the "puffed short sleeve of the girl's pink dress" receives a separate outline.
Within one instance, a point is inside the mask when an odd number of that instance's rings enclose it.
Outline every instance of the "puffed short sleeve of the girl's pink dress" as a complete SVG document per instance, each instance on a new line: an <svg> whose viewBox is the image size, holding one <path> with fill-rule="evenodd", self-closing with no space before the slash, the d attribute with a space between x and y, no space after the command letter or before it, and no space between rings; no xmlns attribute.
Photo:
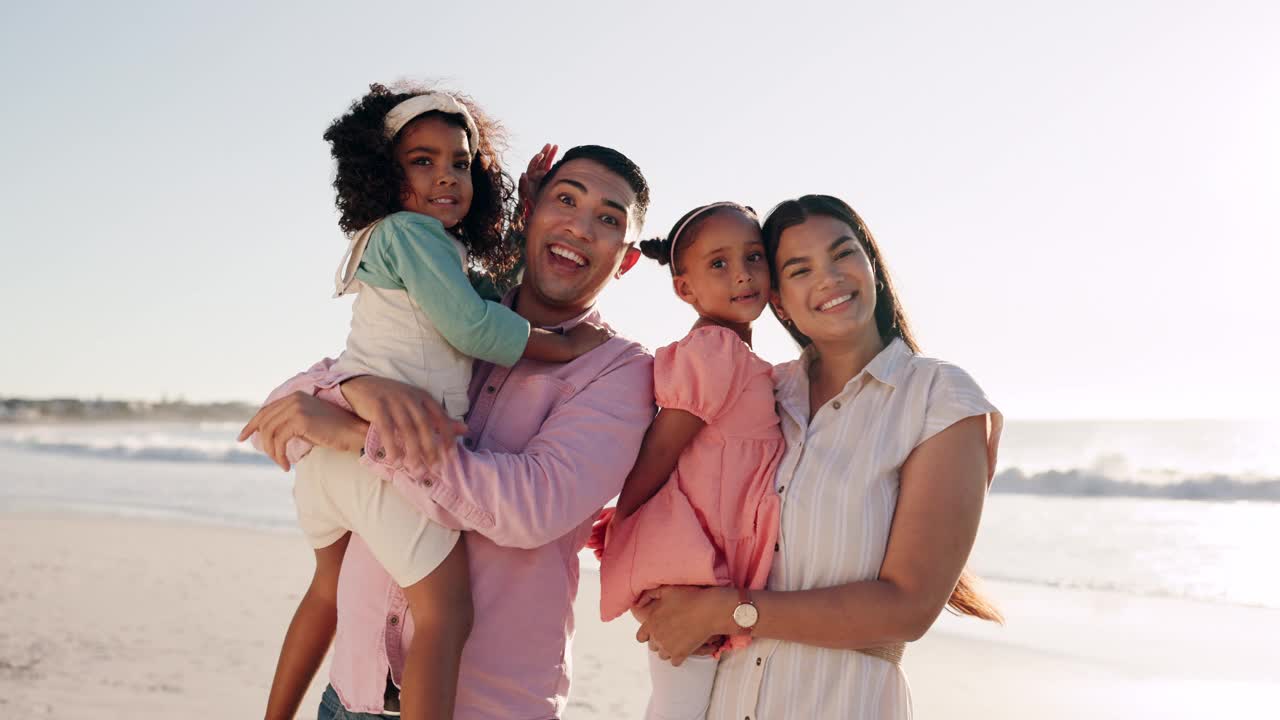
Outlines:
<svg viewBox="0 0 1280 720"><path fill-rule="evenodd" d="M659 407L714 423L742 395L751 359L751 350L733 331L698 328L654 354L654 398Z"/></svg>

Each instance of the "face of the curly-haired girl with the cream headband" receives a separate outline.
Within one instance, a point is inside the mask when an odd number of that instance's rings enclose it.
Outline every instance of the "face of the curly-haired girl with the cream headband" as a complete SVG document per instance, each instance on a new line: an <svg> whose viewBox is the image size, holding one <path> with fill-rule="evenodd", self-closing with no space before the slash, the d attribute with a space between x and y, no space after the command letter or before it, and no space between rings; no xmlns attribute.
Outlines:
<svg viewBox="0 0 1280 720"><path fill-rule="evenodd" d="M401 131L396 161L404 170L401 208L453 228L471 210L471 143L467 131L440 115L412 120Z"/></svg>

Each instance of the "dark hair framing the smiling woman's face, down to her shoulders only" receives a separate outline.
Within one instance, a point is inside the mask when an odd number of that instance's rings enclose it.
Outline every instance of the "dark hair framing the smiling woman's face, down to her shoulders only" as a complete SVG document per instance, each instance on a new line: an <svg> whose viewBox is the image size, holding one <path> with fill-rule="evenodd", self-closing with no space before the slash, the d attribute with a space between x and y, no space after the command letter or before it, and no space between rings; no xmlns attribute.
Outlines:
<svg viewBox="0 0 1280 720"><path fill-rule="evenodd" d="M920 347L911 334L911 328L906 322L906 313L902 311L902 305L897 301L893 281L890 278L888 268L884 266L884 260L881 256L879 246L876 245L872 231L867 229L867 223L863 222L861 217L852 208L837 197L829 195L805 195L795 200L786 200L780 202L764 218L764 252L769 259L769 274L773 278L773 290L778 288L778 243L782 240L782 233L787 228L799 225L812 217L833 218L854 231L854 237L863 246L863 252L870 259L872 270L876 273L874 315L876 329L879 332L881 340L888 345L893 338L901 338L913 352L919 352ZM773 309L773 314L777 316L777 309L772 305L769 307ZM794 324L782 323L782 325L787 328L787 332L791 333L791 337L800 347L809 347L810 340Z"/></svg>

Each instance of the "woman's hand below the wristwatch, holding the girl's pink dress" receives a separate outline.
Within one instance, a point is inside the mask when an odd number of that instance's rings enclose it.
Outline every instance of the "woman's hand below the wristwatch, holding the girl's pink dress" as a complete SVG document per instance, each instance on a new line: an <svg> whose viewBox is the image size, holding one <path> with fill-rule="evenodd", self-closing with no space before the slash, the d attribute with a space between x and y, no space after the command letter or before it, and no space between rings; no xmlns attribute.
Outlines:
<svg viewBox="0 0 1280 720"><path fill-rule="evenodd" d="M666 585L645 591L632 614L645 615L636 641L649 643L658 657L680 666L690 655L714 651L717 635L737 632L733 607L737 592L732 588L699 588Z"/></svg>

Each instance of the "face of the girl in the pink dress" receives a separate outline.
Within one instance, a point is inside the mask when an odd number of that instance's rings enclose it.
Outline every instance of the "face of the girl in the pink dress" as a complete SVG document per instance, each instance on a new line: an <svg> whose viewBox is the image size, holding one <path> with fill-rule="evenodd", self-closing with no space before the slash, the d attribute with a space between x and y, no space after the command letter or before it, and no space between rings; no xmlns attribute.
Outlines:
<svg viewBox="0 0 1280 720"><path fill-rule="evenodd" d="M755 222L737 211L716 213L678 238L676 251L682 270L673 279L676 295L699 315L746 324L764 311L769 265Z"/></svg>

